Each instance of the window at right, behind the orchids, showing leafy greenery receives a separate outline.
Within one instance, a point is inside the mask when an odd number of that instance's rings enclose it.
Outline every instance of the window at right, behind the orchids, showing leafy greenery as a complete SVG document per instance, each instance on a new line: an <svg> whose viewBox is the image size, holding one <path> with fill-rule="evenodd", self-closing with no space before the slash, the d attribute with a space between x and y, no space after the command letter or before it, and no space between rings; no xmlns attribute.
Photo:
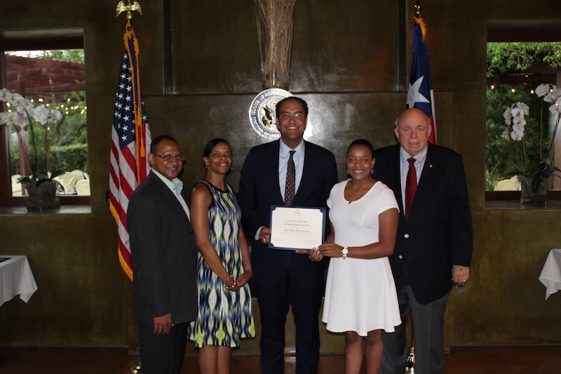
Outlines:
<svg viewBox="0 0 561 374"><path fill-rule="evenodd" d="M561 130L552 141L557 114L549 110L555 100L546 102L543 93L536 95L535 91L542 84L548 90L555 85L561 95L561 79L557 78L561 78L561 34L553 29L536 32L536 25L522 25L517 32L513 25L501 22L490 22L487 43L485 190L487 200L518 200L520 184L515 175L521 174L520 169L532 166L532 160L546 160L548 155L549 163L561 164ZM541 31L548 29L548 25L539 26ZM516 119L524 127L520 131L518 126L518 133L513 133L515 119L510 115L516 111L524 112L523 121ZM560 188L559 178L555 178L553 189ZM551 199L560 197L557 191L550 194Z"/></svg>

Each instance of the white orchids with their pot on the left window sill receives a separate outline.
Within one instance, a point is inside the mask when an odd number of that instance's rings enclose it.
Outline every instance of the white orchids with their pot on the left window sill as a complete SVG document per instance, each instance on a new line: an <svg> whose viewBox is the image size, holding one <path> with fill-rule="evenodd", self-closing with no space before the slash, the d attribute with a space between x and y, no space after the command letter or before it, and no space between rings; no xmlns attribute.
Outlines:
<svg viewBox="0 0 561 374"><path fill-rule="evenodd" d="M48 173L48 134L45 133L45 161L39 166L37 156L37 145L35 142L34 126L45 126L48 130L48 123L55 123L60 119L60 112L49 109L46 105L35 106L31 100L23 98L18 93L11 93L6 88L0 90L0 101L6 102L7 112L0 113L0 126L11 126L18 135L20 142L20 154L22 155L22 169L29 171L29 175L18 178L18 182L25 185L26 205L29 210L43 211L60 207L58 196L58 182L53 178L65 173L62 170L55 170ZM29 153L29 139L31 137L32 154ZM30 162L30 159L32 162ZM42 172L40 172L40 170Z"/></svg>

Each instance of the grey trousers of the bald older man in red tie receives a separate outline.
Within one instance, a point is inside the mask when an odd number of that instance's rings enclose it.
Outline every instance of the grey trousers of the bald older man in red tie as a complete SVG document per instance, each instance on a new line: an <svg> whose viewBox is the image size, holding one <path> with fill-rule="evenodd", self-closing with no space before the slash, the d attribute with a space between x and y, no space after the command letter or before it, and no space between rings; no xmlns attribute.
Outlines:
<svg viewBox="0 0 561 374"><path fill-rule="evenodd" d="M398 289L402 323L396 332L383 333L384 361L381 374L405 373L407 360L407 317L411 313L415 342L415 374L444 374L444 312L448 295L420 304L411 286Z"/></svg>

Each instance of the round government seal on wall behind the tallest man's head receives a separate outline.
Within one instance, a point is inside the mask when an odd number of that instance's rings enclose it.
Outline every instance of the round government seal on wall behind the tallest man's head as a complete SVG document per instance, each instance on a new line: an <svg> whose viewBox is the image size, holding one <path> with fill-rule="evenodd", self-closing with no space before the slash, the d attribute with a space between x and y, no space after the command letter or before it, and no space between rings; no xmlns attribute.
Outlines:
<svg viewBox="0 0 561 374"><path fill-rule="evenodd" d="M265 139L276 140L280 133L276 128L276 104L292 93L282 88L267 88L260 92L250 105L250 123L256 133Z"/></svg>

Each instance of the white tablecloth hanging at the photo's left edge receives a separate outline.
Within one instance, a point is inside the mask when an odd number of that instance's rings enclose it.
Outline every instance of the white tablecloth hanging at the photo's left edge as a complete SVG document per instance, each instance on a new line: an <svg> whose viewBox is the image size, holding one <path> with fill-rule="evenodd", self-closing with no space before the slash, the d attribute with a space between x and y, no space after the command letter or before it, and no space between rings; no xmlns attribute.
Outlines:
<svg viewBox="0 0 561 374"><path fill-rule="evenodd" d="M9 258L0 262L0 306L15 295L28 302L37 290L37 284L27 256L0 255L0 258Z"/></svg>

